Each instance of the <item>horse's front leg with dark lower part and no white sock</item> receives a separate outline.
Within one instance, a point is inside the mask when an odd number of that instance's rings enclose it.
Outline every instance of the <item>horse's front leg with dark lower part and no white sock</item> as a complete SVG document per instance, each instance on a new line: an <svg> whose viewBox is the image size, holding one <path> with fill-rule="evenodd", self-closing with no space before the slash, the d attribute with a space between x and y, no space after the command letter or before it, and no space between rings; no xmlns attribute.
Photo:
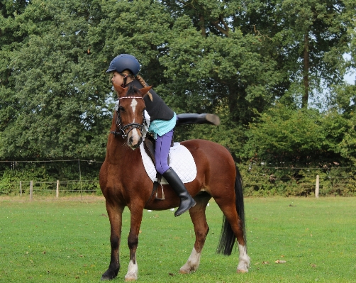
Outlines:
<svg viewBox="0 0 356 283"><path fill-rule="evenodd" d="M111 204L106 201L106 211L108 211L109 221L110 221L110 245L111 245L111 257L108 270L104 272L101 280L111 280L114 279L118 271L120 270L120 260L118 257L118 250L120 248L121 240L121 227L122 227L122 216L123 209L125 206L119 206L118 204Z"/></svg>

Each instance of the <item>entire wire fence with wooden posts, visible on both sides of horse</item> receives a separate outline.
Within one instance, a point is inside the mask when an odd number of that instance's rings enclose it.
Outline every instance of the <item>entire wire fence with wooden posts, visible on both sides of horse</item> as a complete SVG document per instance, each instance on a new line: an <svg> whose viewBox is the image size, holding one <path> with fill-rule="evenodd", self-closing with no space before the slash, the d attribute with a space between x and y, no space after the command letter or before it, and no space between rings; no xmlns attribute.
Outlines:
<svg viewBox="0 0 356 283"><path fill-rule="evenodd" d="M1 161L0 196L29 196L31 192L32 197L101 194L98 180L101 163L95 160ZM356 196L356 167L239 164L238 168L243 176L245 196Z"/></svg>

